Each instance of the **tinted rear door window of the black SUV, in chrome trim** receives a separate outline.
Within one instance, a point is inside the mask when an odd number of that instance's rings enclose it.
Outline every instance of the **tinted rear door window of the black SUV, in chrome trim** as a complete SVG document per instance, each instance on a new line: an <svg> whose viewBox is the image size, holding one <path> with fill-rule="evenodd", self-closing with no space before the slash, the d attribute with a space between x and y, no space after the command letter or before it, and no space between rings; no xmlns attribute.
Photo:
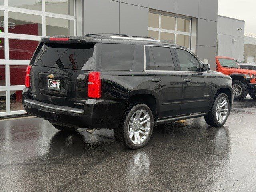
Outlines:
<svg viewBox="0 0 256 192"><path fill-rule="evenodd" d="M151 49L156 64L156 70L174 71L174 64L170 48L152 46Z"/></svg>

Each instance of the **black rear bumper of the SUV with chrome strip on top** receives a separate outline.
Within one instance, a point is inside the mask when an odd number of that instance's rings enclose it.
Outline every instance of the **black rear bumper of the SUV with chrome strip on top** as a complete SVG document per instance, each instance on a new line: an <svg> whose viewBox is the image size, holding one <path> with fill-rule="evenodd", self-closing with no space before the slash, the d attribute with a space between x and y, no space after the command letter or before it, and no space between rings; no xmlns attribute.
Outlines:
<svg viewBox="0 0 256 192"><path fill-rule="evenodd" d="M53 124L96 129L118 127L124 106L122 102L112 100L87 99L82 110L26 99L23 94L22 103L26 112Z"/></svg>

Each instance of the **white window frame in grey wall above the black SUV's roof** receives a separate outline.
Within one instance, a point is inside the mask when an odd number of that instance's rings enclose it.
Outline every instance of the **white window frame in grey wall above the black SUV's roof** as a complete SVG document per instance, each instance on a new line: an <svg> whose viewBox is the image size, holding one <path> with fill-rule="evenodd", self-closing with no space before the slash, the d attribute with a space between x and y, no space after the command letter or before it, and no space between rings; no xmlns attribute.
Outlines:
<svg viewBox="0 0 256 192"><path fill-rule="evenodd" d="M156 31L158 32L158 39L161 39L161 32L166 32L166 33L172 33L175 35L175 39L174 39L174 44L177 44L177 34L180 35L187 35L189 36L189 48L191 49L191 32L192 32L192 18L190 17L182 17L182 16L177 16L176 14L168 14L168 13L163 13L163 12L156 12L156 11L152 11L149 10L149 13L153 13L153 14L158 14L159 15L159 24L158 24L158 28L154 28L154 27L150 27L148 26L148 30L150 31ZM168 30L168 29L163 29L161 28L161 16L170 16L170 17L174 17L175 18L175 30ZM178 18L180 19L186 19L186 20L190 20L190 32L182 32L182 31L178 31L177 27L178 27Z"/></svg>

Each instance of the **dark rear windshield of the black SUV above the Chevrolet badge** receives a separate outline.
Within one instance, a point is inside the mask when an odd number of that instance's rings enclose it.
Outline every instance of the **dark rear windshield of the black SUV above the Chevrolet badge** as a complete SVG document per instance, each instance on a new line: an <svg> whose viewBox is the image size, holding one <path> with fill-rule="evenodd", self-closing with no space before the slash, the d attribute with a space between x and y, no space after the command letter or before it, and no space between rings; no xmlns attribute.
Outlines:
<svg viewBox="0 0 256 192"><path fill-rule="evenodd" d="M94 44L41 43L32 65L62 69L90 70Z"/></svg>

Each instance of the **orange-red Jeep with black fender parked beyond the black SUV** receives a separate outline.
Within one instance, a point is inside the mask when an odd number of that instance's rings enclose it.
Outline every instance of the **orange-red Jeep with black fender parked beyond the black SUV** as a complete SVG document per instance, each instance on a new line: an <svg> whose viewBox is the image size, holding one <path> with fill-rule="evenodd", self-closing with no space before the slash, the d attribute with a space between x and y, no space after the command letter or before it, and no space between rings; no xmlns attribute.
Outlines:
<svg viewBox="0 0 256 192"><path fill-rule="evenodd" d="M232 78L235 100L243 100L249 95L256 100L256 71L241 69L233 58L216 56L216 71Z"/></svg>

